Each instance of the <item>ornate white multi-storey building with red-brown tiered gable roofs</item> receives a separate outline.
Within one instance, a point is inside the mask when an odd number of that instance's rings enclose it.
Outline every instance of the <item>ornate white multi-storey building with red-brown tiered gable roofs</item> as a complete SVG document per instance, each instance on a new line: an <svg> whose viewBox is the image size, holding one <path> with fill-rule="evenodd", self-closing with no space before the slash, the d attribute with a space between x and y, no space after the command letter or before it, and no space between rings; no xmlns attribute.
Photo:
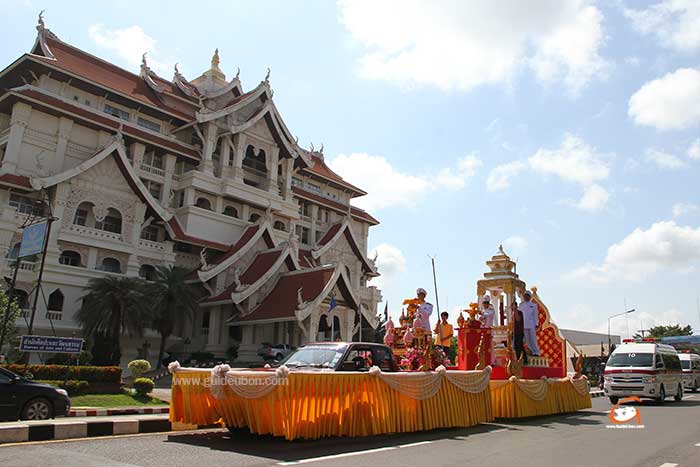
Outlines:
<svg viewBox="0 0 700 467"><path fill-rule="evenodd" d="M330 339L331 300L336 337L377 326L367 237L378 221L350 205L366 193L326 165L323 147L299 146L269 70L245 91L217 50L201 76L188 81L176 66L167 80L145 56L133 74L61 41L41 17L37 31L0 73L5 276L35 200L48 197L58 219L35 334L80 336L73 316L91 278L148 279L156 265L191 269L205 296L166 349L223 355L238 343L239 359L253 361L262 342ZM39 258L18 272L25 309L38 270ZM148 329L124 337L123 361L153 362L158 342Z"/></svg>

